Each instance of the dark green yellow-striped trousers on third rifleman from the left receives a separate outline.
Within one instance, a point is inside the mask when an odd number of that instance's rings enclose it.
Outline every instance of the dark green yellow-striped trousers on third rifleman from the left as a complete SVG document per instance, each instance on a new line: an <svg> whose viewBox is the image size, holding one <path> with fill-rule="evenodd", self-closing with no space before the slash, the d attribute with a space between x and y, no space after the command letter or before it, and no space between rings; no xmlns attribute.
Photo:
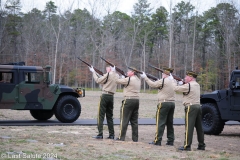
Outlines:
<svg viewBox="0 0 240 160"><path fill-rule="evenodd" d="M173 114L174 102L162 102L157 106L155 144L161 144L165 126L167 126L168 142L174 142Z"/></svg>

